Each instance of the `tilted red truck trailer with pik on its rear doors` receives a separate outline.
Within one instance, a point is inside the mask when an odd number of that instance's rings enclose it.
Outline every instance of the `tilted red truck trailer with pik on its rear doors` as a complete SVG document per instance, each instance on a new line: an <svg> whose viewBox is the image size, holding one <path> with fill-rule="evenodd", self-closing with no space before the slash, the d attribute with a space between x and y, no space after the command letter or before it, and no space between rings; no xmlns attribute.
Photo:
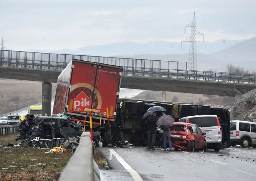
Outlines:
<svg viewBox="0 0 256 181"><path fill-rule="evenodd" d="M53 115L65 114L84 120L84 109L102 109L92 113L94 120L114 121L118 102L122 67L73 59L61 72L53 106ZM70 112L78 111L81 112Z"/></svg>

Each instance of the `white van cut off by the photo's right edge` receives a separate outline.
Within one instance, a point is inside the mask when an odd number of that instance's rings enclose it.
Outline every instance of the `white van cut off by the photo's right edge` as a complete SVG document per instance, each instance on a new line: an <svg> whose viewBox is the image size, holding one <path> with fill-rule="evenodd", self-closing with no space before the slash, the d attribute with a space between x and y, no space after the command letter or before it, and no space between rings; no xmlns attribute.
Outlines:
<svg viewBox="0 0 256 181"><path fill-rule="evenodd" d="M256 123L250 121L230 121L230 145L256 148Z"/></svg>

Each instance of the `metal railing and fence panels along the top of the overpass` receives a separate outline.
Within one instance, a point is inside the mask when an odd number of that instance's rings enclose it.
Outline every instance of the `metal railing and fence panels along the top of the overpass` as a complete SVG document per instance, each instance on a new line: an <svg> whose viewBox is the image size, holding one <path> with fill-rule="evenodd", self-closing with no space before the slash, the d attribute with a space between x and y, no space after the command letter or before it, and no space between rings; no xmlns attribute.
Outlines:
<svg viewBox="0 0 256 181"><path fill-rule="evenodd" d="M187 62L0 50L0 66L63 70L72 59L123 67L123 75L255 84L252 74L187 70Z"/></svg>

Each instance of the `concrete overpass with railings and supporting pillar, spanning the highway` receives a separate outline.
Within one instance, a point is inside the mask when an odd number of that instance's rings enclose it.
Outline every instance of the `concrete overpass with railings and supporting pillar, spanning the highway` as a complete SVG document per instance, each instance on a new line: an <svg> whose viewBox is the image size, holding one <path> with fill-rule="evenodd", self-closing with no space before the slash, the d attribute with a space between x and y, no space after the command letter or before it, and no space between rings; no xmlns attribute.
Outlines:
<svg viewBox="0 0 256 181"><path fill-rule="evenodd" d="M12 50L0 50L0 78L43 82L42 107L47 107L51 83L72 59L122 66L122 88L238 98L256 87L256 75L187 70L187 62Z"/></svg>

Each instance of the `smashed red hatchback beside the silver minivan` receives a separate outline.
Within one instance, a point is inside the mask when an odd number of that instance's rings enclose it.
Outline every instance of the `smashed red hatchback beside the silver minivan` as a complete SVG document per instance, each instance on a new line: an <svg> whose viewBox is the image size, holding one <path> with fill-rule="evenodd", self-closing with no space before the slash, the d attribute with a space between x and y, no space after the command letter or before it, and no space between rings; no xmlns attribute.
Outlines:
<svg viewBox="0 0 256 181"><path fill-rule="evenodd" d="M205 133L196 124L174 122L170 127L172 147L184 151L204 150Z"/></svg>

